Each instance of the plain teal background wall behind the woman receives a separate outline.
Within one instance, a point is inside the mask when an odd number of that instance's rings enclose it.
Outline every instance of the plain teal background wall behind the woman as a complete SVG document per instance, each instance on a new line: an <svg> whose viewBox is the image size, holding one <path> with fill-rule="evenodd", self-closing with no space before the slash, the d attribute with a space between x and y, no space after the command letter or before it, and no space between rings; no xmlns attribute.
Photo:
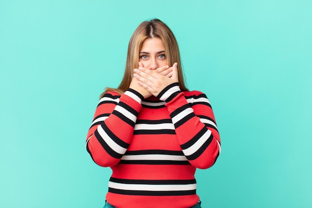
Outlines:
<svg viewBox="0 0 312 208"><path fill-rule="evenodd" d="M85 139L128 41L160 18L222 153L203 208L312 207L311 0L0 0L0 208L101 208L109 168Z"/></svg>

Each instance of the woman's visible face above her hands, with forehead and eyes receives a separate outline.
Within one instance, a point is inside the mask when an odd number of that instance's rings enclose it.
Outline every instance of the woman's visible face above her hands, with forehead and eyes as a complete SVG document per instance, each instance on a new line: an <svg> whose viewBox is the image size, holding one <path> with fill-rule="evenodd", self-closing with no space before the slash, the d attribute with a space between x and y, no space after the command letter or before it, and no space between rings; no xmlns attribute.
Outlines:
<svg viewBox="0 0 312 208"><path fill-rule="evenodd" d="M155 70L167 65L165 47L158 37L149 37L144 40L139 57L140 62L147 69Z"/></svg>

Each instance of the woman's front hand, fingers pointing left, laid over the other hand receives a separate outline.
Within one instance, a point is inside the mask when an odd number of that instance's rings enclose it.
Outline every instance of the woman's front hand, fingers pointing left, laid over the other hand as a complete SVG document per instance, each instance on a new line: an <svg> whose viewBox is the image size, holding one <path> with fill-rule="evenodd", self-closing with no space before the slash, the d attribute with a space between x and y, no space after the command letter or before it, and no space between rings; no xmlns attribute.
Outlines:
<svg viewBox="0 0 312 208"><path fill-rule="evenodd" d="M157 96L166 86L178 82L178 73L177 73L177 63L174 63L172 66L171 77L164 76L157 73L154 70L150 70L144 67L139 67L139 69L134 70L134 77L139 81L138 84L152 93L154 96Z"/></svg>

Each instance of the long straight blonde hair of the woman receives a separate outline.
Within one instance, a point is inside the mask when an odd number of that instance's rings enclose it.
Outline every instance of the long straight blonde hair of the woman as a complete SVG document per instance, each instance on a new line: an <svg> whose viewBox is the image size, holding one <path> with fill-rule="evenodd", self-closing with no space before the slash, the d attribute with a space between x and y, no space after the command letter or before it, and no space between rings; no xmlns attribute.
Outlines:
<svg viewBox="0 0 312 208"><path fill-rule="evenodd" d="M130 39L126 69L119 87L117 89L109 87L105 88L105 91L101 94L100 98L102 98L108 91L123 94L129 88L132 81L133 70L139 67L139 53L142 48L142 44L145 39L153 37L158 37L162 40L165 46L167 65L172 66L174 62L177 62L180 89L188 91L184 84L180 52L175 36L165 23L159 19L152 19L151 21L142 22L134 31Z"/></svg>

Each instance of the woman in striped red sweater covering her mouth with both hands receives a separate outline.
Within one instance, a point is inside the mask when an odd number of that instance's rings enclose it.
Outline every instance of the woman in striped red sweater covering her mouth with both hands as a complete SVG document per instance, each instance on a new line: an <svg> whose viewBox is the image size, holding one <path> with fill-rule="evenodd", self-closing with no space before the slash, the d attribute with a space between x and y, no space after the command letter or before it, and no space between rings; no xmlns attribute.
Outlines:
<svg viewBox="0 0 312 208"><path fill-rule="evenodd" d="M215 163L220 138L206 95L185 87L176 39L159 19L132 35L124 78L102 93L86 145L113 171L104 208L200 208L195 170Z"/></svg>

